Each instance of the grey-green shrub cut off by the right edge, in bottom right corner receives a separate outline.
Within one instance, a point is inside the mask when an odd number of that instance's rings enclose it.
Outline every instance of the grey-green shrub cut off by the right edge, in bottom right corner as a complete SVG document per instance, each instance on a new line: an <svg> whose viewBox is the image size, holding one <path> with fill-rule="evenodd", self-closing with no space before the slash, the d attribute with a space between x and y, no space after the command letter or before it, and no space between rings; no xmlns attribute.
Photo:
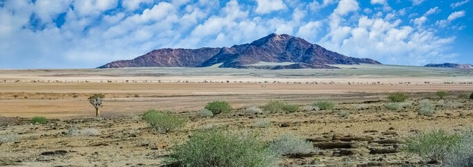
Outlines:
<svg viewBox="0 0 473 167"><path fill-rule="evenodd" d="M473 132L463 133L461 141L445 157L445 167L473 166Z"/></svg>

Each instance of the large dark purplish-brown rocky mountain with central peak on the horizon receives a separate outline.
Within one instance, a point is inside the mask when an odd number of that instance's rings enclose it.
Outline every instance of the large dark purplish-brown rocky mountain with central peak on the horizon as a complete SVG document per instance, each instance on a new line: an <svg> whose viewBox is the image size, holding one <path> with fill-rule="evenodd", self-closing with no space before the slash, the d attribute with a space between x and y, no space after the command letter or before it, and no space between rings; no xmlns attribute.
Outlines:
<svg viewBox="0 0 473 167"><path fill-rule="evenodd" d="M259 65L258 63L273 63ZM284 65L278 65L282 63ZM287 65L289 63L289 65ZM223 48L157 49L128 61L113 61L110 67L235 67L235 68L337 68L330 65L380 64L369 58L353 58L311 44L302 38L272 33L250 44Z"/></svg>

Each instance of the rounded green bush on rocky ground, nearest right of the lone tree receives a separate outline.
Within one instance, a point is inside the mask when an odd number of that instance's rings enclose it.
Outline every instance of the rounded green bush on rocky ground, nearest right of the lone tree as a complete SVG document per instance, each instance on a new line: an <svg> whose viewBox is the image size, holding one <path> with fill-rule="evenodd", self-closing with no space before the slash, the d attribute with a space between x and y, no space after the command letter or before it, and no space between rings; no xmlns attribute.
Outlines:
<svg viewBox="0 0 473 167"><path fill-rule="evenodd" d="M174 132L186 125L184 118L156 110L146 111L143 114L143 120L150 123L154 129L164 133Z"/></svg>

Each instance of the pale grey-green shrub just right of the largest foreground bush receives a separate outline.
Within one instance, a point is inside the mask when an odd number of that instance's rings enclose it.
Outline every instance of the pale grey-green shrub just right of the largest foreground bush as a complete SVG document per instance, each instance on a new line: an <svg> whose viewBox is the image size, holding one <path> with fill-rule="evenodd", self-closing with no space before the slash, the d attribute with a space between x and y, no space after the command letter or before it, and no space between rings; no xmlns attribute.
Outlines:
<svg viewBox="0 0 473 167"><path fill-rule="evenodd" d="M269 144L269 149L276 154L307 154L316 152L314 144L291 134L284 134Z"/></svg>

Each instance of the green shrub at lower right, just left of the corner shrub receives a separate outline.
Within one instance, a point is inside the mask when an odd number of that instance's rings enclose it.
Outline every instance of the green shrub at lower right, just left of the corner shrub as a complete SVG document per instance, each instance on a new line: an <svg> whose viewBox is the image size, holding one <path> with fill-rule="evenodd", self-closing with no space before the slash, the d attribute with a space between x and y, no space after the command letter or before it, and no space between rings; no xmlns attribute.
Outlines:
<svg viewBox="0 0 473 167"><path fill-rule="evenodd" d="M449 134L443 130L420 134L406 140L406 151L418 154L429 163L439 164L447 152L460 141L457 134Z"/></svg>

